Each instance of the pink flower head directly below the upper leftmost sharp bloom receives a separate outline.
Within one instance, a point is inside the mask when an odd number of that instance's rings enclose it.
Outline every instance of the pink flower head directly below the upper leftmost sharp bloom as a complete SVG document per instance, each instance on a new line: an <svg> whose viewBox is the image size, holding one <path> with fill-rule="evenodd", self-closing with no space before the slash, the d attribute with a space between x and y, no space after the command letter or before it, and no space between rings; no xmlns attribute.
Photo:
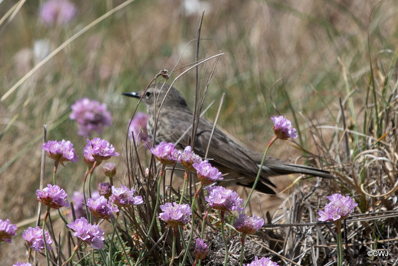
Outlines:
<svg viewBox="0 0 398 266"><path fill-rule="evenodd" d="M68 194L57 185L48 184L43 190L36 190L37 200L53 209L70 207Z"/></svg>

